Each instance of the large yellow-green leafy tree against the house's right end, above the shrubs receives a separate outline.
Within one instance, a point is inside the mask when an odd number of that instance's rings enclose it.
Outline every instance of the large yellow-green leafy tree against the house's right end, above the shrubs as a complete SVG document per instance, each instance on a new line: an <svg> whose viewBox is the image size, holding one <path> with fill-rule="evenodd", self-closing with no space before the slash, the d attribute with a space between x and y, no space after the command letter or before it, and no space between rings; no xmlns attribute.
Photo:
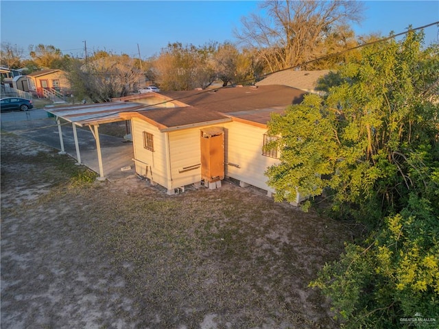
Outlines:
<svg viewBox="0 0 439 329"><path fill-rule="evenodd" d="M283 151L281 163L268 170L278 199L294 199L296 188L304 195L331 188L336 202L356 204L357 213L366 200L398 210L401 188L424 184L409 180L410 167L402 166L422 145L438 151L438 105L431 98L438 48L420 51L422 40L410 33L404 42L366 47L361 60L331 76L338 85L327 97L309 95L272 117L270 134L282 136L269 145ZM309 174L313 169L319 175Z"/></svg>

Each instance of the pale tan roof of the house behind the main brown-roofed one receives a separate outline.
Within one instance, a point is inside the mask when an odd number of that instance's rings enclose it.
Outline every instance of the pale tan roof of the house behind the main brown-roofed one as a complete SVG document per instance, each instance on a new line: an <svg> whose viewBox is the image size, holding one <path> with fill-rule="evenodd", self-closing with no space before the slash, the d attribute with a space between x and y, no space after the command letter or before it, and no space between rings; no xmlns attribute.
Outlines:
<svg viewBox="0 0 439 329"><path fill-rule="evenodd" d="M265 79L256 83L257 86L268 86L271 84L282 84L305 90L308 93L319 93L316 90L317 82L321 77L330 73L331 70L321 71L295 71L294 69L272 73Z"/></svg>

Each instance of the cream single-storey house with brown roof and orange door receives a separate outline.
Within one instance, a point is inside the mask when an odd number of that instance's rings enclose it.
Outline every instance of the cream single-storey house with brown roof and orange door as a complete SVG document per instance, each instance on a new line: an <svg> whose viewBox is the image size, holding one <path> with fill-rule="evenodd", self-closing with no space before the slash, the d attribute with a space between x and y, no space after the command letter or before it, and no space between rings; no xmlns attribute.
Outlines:
<svg viewBox="0 0 439 329"><path fill-rule="evenodd" d="M226 176L271 195L274 190L267 185L265 171L279 160L276 151L263 151L269 140L267 123L272 112L282 113L304 95L297 88L272 85L115 100L145 104L119 115L131 121L137 173L167 188L169 195L189 184L216 188Z"/></svg>

